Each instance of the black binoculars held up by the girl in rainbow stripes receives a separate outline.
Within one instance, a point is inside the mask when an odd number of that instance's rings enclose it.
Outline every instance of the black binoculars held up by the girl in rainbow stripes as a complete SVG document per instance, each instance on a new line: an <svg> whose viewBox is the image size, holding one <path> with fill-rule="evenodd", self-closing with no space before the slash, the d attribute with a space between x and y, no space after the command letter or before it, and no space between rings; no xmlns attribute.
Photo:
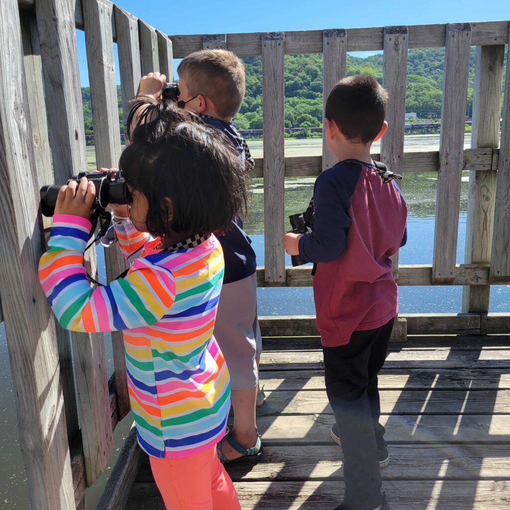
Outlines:
<svg viewBox="0 0 510 510"><path fill-rule="evenodd" d="M67 181L79 183L82 177L87 177L94 183L96 196L92 205L92 210L107 208L109 203L126 204L130 203L131 193L127 188L120 172L82 172L76 177ZM40 190L41 211L44 216L53 216L55 214L55 205L61 186L51 185L43 186Z"/></svg>

